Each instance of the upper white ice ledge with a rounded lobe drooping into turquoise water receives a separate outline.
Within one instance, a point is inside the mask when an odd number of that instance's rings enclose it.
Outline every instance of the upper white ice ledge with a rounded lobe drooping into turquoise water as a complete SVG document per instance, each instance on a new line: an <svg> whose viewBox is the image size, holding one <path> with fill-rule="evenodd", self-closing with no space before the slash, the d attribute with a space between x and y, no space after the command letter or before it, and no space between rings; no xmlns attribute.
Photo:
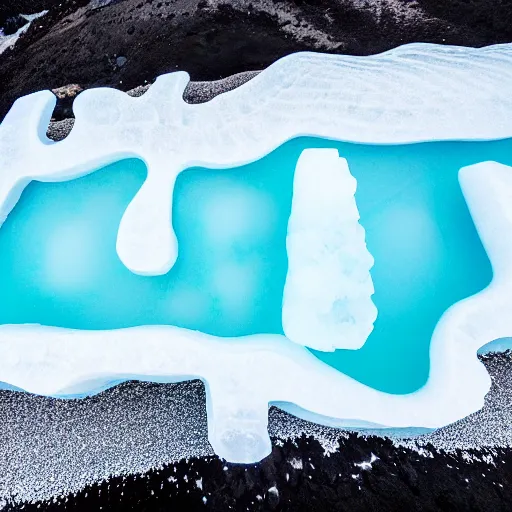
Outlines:
<svg viewBox="0 0 512 512"><path fill-rule="evenodd" d="M301 135L386 144L512 136L510 44L296 53L197 105L183 101L188 81L183 72L163 75L139 98L85 91L73 130L55 144L45 135L53 94L20 98L0 125L0 222L31 179L72 179L139 157L148 177L121 221L117 251L135 273L164 274L178 253L174 183L187 167L245 164Z"/></svg>

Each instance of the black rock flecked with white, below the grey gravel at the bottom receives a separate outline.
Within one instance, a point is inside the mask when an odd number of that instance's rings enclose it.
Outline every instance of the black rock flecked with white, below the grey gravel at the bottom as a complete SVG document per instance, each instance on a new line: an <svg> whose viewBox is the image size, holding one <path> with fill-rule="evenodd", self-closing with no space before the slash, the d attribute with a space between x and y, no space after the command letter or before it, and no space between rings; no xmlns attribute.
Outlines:
<svg viewBox="0 0 512 512"><path fill-rule="evenodd" d="M510 510L512 451L474 455L477 459L469 462L460 452L445 454L430 447L430 456L421 456L389 440L354 434L340 439L338 450L325 456L317 441L302 437L274 446L258 465L190 459L145 475L112 478L53 502L25 503L23 510ZM483 462L483 455L492 462Z"/></svg>

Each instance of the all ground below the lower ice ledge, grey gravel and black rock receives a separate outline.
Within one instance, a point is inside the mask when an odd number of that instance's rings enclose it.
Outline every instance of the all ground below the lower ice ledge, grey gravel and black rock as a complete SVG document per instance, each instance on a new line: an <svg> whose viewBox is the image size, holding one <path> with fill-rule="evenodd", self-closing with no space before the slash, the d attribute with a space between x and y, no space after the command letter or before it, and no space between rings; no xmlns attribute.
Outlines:
<svg viewBox="0 0 512 512"><path fill-rule="evenodd" d="M453 425L391 440L272 408L273 453L248 467L214 456L199 381L130 382L83 400L2 391L0 499L17 493L6 510L194 510L203 497L219 511L510 510L512 355L482 360L485 406Z"/></svg>

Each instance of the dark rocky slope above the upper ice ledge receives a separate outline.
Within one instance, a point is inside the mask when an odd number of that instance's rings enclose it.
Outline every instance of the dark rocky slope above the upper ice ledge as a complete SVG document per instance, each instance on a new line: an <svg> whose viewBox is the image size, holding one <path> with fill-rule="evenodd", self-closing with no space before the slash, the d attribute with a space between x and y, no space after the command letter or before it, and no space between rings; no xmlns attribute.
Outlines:
<svg viewBox="0 0 512 512"><path fill-rule="evenodd" d="M49 13L0 56L0 119L17 97L70 83L129 90L177 69L193 80L259 70L300 50L366 55L415 41L512 40L509 0L41 2Z"/></svg>

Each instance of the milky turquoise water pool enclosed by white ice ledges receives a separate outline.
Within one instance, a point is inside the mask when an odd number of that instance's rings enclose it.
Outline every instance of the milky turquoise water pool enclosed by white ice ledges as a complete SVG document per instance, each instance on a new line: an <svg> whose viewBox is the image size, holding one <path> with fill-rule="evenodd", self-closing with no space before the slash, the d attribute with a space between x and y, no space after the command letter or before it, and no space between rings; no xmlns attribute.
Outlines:
<svg viewBox="0 0 512 512"><path fill-rule="evenodd" d="M293 172L310 147L338 148L357 179L378 308L362 349L314 354L377 389L418 389L442 313L492 277L458 169L484 160L512 165L511 139L370 146L301 138L236 169L187 170L173 204L179 257L159 277L132 274L115 249L121 217L146 175L142 162L31 183L0 229L0 323L282 333Z"/></svg>

